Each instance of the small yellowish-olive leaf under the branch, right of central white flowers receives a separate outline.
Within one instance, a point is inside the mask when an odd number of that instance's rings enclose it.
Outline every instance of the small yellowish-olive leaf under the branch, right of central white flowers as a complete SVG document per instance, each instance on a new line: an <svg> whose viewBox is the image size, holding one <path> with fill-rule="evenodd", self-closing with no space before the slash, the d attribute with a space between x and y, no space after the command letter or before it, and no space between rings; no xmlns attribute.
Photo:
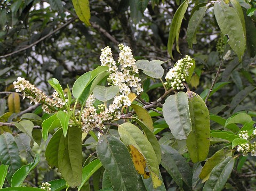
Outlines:
<svg viewBox="0 0 256 191"><path fill-rule="evenodd" d="M138 118L146 124L146 126L150 129L150 131L153 132L154 127L153 127L153 121L152 118L150 117L149 113L147 110L145 110L143 107L140 105L131 105L132 109L135 111L135 113L138 115Z"/></svg>

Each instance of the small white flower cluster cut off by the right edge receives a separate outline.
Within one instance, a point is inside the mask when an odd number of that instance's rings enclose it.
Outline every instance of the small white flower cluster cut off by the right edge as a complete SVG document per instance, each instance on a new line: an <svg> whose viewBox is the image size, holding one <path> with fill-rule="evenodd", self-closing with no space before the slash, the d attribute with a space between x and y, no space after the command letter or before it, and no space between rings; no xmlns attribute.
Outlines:
<svg viewBox="0 0 256 191"><path fill-rule="evenodd" d="M256 135L256 129L253 130L253 135ZM238 136L240 138L249 140L249 134L247 130L240 131ZM243 156L247 156L248 153L251 153L252 156L256 156L256 142L253 143L245 143L237 146L237 151L242 152Z"/></svg>

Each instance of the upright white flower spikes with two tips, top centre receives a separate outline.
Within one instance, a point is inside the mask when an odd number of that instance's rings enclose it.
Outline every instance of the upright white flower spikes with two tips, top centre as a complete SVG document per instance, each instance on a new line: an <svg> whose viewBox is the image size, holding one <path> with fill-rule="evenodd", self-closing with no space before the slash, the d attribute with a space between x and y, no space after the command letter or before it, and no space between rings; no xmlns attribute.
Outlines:
<svg viewBox="0 0 256 191"><path fill-rule="evenodd" d="M141 80L138 77L139 69L135 65L136 60L133 58L131 48L120 44L119 49L119 69L113 59L111 49L108 46L101 49L101 65L107 65L109 67L108 85L119 86L119 92L126 96L131 93L131 88L134 88L134 91L139 95L143 92L143 88L140 84Z"/></svg>

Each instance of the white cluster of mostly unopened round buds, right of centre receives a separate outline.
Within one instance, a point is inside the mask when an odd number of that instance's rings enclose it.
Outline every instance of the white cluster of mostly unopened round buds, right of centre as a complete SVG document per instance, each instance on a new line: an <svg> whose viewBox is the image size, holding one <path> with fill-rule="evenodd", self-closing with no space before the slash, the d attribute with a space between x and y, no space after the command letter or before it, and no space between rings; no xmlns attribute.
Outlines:
<svg viewBox="0 0 256 191"><path fill-rule="evenodd" d="M192 65L193 62L191 57L186 55L184 59L178 60L174 64L174 67L167 72L165 79L170 83L174 90L184 89L183 81L189 76L189 68Z"/></svg>

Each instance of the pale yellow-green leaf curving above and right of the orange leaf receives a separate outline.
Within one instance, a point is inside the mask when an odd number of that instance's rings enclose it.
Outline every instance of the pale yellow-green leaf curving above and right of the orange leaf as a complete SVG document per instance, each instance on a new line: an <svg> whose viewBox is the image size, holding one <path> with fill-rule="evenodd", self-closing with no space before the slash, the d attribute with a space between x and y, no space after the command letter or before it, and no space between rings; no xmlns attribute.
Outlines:
<svg viewBox="0 0 256 191"><path fill-rule="evenodd" d="M149 170L158 178L159 169L157 156L154 152L154 148L140 129L132 123L123 123L118 127L118 132L125 145L133 145L145 157ZM152 173L151 176L153 176Z"/></svg>

